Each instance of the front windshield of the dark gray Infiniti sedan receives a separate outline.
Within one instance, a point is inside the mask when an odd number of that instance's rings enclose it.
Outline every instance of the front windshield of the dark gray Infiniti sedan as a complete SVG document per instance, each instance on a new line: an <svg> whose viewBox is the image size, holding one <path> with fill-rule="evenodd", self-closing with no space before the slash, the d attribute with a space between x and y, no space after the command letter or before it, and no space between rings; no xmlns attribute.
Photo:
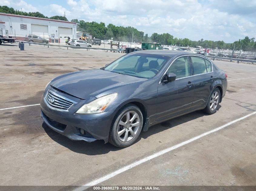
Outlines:
<svg viewBox="0 0 256 191"><path fill-rule="evenodd" d="M153 78L169 58L162 55L133 53L122 56L103 69L139 78Z"/></svg>

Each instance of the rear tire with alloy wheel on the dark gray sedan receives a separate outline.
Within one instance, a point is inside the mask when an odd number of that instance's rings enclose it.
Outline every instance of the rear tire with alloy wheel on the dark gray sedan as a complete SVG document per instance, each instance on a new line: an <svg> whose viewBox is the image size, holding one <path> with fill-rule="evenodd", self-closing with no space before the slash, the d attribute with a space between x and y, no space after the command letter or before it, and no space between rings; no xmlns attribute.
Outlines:
<svg viewBox="0 0 256 191"><path fill-rule="evenodd" d="M204 108L204 112L207 113L207 114L213 114L216 112L217 110L217 107L220 103L220 99L221 99L221 93L220 93L220 90L219 88L215 88L210 97L209 97L209 100L208 100L208 103L206 105L206 107ZM214 102L213 102L214 100ZM217 103L216 103L217 102Z"/></svg>

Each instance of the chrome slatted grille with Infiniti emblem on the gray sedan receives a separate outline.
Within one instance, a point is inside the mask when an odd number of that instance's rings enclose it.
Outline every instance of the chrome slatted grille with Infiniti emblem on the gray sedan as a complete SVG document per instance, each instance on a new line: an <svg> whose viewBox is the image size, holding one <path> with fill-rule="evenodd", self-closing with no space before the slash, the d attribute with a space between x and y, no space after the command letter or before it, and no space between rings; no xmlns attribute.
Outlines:
<svg viewBox="0 0 256 191"><path fill-rule="evenodd" d="M57 111L68 111L68 109L74 104L77 103L73 100L70 100L66 97L63 97L51 90L48 90L45 95L45 103L47 106L53 110Z"/></svg>

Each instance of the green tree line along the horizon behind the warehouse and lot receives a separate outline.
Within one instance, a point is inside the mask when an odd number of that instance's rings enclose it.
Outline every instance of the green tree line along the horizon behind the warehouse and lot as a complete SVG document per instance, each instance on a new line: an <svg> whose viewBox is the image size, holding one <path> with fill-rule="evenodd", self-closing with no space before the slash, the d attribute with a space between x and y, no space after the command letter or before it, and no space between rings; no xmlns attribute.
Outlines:
<svg viewBox="0 0 256 191"><path fill-rule="evenodd" d="M0 6L0 12L9 14L26 15L32 17L48 18L39 12L23 12L9 8L8 6ZM50 19L68 21L64 16L52 16ZM114 24L97 23L95 21L85 22L84 20L78 21L78 19L72 19L71 22L77 23L77 31L90 33L95 38L106 39L114 38L115 40L120 40L124 42L131 42L132 38L134 42L145 42L145 43L160 43L163 45L174 45L174 46L190 46L211 49L234 49L234 50L247 50L255 51L256 42L255 38L245 37L244 39L239 39L233 43L225 43L223 40L213 41L213 40L190 40L188 38L177 38L169 33L153 33L151 37L148 34L144 35L143 31L139 31L134 27L122 27L115 26ZM133 36L133 37L132 37Z"/></svg>

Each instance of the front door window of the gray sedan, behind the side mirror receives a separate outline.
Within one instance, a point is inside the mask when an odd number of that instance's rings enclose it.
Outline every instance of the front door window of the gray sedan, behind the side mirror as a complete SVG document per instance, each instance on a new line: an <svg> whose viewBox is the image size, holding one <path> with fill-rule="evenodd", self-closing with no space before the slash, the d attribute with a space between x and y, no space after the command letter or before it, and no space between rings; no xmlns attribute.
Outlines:
<svg viewBox="0 0 256 191"><path fill-rule="evenodd" d="M190 65L188 62L188 56L184 56L175 60L168 69L167 73L176 74L177 79L190 76Z"/></svg>

